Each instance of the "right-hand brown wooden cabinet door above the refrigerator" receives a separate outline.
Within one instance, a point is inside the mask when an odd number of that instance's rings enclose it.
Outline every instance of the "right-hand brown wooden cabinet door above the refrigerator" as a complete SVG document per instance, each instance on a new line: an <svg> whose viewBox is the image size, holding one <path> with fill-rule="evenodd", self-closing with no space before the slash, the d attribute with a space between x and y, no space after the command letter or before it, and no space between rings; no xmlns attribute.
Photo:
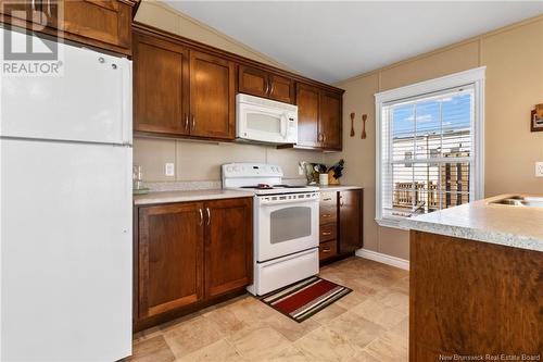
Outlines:
<svg viewBox="0 0 543 362"><path fill-rule="evenodd" d="M47 9L47 1L41 1ZM55 0L64 7L61 28L93 40L130 48L131 7L117 0Z"/></svg>

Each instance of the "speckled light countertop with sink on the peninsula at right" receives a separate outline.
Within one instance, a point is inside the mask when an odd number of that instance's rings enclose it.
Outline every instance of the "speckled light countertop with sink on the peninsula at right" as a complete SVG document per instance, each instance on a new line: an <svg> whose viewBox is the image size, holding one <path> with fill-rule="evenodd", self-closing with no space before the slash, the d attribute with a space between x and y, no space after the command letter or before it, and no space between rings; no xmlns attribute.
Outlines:
<svg viewBox="0 0 543 362"><path fill-rule="evenodd" d="M401 226L507 247L543 251L543 208L492 203L501 195L406 219Z"/></svg>

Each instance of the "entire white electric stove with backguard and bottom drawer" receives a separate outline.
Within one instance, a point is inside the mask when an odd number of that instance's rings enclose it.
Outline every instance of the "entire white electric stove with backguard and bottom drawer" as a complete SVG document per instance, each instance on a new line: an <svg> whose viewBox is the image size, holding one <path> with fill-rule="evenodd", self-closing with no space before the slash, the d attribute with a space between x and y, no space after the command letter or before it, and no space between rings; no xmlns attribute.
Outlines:
<svg viewBox="0 0 543 362"><path fill-rule="evenodd" d="M278 165L223 165L223 188L254 192L256 296L318 274L318 187L286 185Z"/></svg>

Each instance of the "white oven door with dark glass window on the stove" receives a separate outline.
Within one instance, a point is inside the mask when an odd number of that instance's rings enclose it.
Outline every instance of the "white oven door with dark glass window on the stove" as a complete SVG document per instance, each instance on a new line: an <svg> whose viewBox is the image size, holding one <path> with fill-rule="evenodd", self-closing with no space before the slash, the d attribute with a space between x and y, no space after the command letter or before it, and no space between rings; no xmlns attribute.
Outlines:
<svg viewBox="0 0 543 362"><path fill-rule="evenodd" d="M318 192L256 197L257 262L318 247Z"/></svg>

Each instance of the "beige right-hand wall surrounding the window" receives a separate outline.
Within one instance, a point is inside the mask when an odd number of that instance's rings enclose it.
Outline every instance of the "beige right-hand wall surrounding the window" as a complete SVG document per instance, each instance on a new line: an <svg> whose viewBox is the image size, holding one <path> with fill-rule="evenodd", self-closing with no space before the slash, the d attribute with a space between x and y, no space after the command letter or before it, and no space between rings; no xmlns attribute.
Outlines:
<svg viewBox="0 0 543 362"><path fill-rule="evenodd" d="M485 65L485 195L543 194L534 177L543 161L543 133L530 133L530 111L543 102L543 16L492 32L338 84L343 96L344 182L365 187L365 248L408 259L408 234L375 222L376 92ZM351 112L367 113L368 138L351 138ZM330 158L325 155L325 163Z"/></svg>

